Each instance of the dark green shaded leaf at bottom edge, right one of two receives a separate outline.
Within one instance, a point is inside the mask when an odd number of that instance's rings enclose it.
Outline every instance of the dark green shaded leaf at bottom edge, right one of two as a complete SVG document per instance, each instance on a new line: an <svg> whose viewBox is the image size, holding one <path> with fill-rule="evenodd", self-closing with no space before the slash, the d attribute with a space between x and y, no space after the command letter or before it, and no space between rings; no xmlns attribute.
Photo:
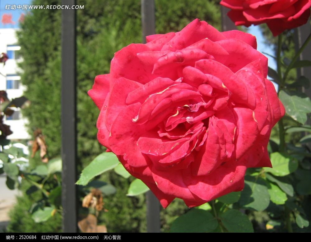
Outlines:
<svg viewBox="0 0 311 242"><path fill-rule="evenodd" d="M222 224L232 233L253 233L253 225L246 214L230 209L220 215Z"/></svg>

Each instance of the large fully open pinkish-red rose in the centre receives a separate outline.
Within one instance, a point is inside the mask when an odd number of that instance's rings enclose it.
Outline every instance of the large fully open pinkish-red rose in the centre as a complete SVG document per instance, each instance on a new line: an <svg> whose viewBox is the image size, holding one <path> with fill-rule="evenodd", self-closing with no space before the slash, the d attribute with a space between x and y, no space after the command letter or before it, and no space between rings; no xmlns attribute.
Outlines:
<svg viewBox="0 0 311 242"><path fill-rule="evenodd" d="M193 207L244 186L248 167L271 166L267 143L284 115L256 38L194 20L116 52L88 92L99 142L163 207Z"/></svg>

